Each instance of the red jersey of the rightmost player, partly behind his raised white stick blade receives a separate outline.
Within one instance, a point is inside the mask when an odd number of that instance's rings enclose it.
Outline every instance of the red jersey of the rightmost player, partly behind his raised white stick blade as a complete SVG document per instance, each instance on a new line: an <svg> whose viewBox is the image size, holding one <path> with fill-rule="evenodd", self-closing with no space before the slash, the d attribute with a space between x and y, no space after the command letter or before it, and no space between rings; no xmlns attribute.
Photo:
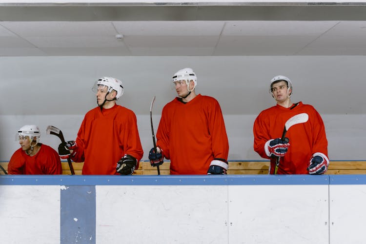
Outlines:
<svg viewBox="0 0 366 244"><path fill-rule="evenodd" d="M280 159L278 174L308 174L306 168L314 153L320 152L328 157L324 122L313 106L302 102L293 109L277 104L262 111L254 122L254 150L262 158L269 159L264 151L265 142L281 138L285 122L301 113L307 113L309 120L293 125L286 132L290 146L285 156ZM270 160L270 174L273 174L276 158Z"/></svg>

